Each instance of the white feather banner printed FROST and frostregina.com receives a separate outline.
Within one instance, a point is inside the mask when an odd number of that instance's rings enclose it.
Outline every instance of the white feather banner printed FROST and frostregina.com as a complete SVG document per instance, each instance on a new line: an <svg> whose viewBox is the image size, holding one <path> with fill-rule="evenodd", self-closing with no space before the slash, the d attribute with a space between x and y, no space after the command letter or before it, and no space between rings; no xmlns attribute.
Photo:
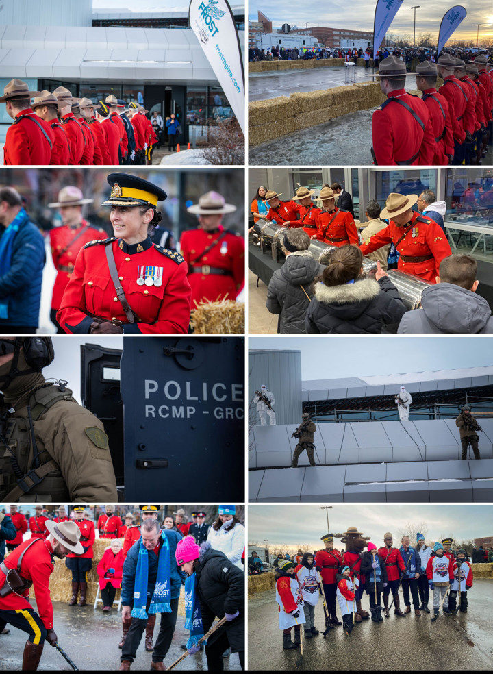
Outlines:
<svg viewBox="0 0 493 674"><path fill-rule="evenodd" d="M191 0L190 27L245 132L244 72L240 40L226 0Z"/></svg>

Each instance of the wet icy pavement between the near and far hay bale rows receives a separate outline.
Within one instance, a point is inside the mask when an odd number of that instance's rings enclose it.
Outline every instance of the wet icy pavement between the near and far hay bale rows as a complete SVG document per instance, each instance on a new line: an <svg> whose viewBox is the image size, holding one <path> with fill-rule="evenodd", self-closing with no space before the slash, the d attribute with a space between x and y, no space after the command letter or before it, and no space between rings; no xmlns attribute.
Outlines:
<svg viewBox="0 0 493 674"><path fill-rule="evenodd" d="M372 69L352 67L355 82L346 82L346 66L313 68L310 70L266 71L249 75L249 101L265 101L277 96L289 96L320 89L331 89L344 84L372 82ZM351 73L349 73L351 76ZM405 88L416 89L416 79L407 77Z"/></svg>

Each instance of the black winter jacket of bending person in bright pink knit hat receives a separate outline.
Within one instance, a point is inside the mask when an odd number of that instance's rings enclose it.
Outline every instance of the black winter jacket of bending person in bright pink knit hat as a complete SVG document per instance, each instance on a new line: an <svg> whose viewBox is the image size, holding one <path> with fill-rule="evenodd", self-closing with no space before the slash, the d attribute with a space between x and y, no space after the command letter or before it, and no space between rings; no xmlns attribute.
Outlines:
<svg viewBox="0 0 493 674"><path fill-rule="evenodd" d="M238 618L217 629L207 639L207 645L226 632L231 652L244 651L244 572L237 569L224 553L213 550L210 543L203 543L196 573L204 634L215 617L220 619L225 613L240 612Z"/></svg>

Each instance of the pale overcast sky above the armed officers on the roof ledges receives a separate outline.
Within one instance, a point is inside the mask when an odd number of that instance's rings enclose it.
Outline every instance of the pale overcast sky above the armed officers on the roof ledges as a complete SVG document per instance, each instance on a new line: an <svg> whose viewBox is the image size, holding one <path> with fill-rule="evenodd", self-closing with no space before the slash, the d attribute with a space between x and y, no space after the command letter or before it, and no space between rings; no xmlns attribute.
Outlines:
<svg viewBox="0 0 493 674"><path fill-rule="evenodd" d="M250 337L249 349L299 349L303 381L493 364L491 338L476 335L276 335Z"/></svg>

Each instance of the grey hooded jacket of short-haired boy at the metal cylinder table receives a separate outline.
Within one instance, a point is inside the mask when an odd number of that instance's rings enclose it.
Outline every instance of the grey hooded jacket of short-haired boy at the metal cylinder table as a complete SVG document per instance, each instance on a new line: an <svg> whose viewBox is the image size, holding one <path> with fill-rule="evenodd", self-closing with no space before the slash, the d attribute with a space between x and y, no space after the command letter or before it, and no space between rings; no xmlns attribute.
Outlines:
<svg viewBox="0 0 493 674"><path fill-rule="evenodd" d="M423 290L422 309L408 311L397 332L404 333L493 333L490 305L480 295L452 283L439 283Z"/></svg>

